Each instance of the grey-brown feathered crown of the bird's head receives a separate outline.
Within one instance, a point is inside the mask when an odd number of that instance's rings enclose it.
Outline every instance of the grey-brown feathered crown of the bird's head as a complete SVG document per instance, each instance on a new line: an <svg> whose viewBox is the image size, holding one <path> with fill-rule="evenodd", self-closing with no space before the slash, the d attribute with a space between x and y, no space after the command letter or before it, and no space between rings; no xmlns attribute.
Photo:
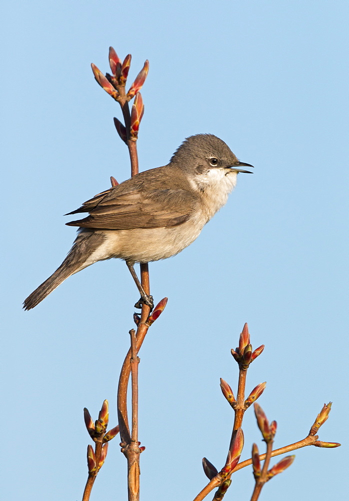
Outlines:
<svg viewBox="0 0 349 501"><path fill-rule="evenodd" d="M210 157L217 157L225 160L227 164L234 164L237 158L219 137L213 134L196 134L187 137L182 144L175 150L169 163L179 164L181 168L185 165L195 164L199 160Z"/></svg>

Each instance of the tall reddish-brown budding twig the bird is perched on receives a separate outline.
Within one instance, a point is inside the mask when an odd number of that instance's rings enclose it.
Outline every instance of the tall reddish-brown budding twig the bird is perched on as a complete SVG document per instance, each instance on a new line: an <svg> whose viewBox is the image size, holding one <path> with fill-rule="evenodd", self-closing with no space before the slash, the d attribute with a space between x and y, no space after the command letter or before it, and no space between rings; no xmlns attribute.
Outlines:
<svg viewBox="0 0 349 501"><path fill-rule="evenodd" d="M112 47L109 48L109 63L111 75L108 73L104 76L95 65L92 66L94 78L98 84L117 101L121 107L124 125L116 118L114 124L116 130L128 147L131 176L138 173L138 155L136 140L138 137L138 128L140 120L143 116L144 106L140 96L141 89L147 72L149 63L145 61L142 70L138 73L129 91L126 93L125 85L127 81L131 56L128 54L124 61L118 58ZM132 110L129 109L129 101L134 97ZM115 180L111 179L111 183L115 186ZM150 295L149 290L149 272L148 265L140 265L140 283L143 291L147 296ZM162 308L163 309L163 308ZM162 311L162 310L161 310ZM149 317L150 308L142 304L140 322L137 328L137 333L134 330L130 331L131 348L123 362L118 391L117 391L117 414L120 427L121 450L127 459L127 474L128 474L128 500L138 501L139 499L139 454L142 449L138 443L138 358L137 353L144 340L149 325L146 321ZM132 427L131 433L129 430L127 417L127 387L130 371L132 372Z"/></svg>

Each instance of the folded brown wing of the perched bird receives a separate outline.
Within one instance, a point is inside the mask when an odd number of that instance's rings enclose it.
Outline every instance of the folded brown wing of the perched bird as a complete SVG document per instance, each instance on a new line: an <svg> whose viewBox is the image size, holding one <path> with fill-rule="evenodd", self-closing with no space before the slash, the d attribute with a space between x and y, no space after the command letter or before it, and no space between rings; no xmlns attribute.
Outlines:
<svg viewBox="0 0 349 501"><path fill-rule="evenodd" d="M122 183L99 193L69 212L89 212L89 216L66 224L99 229L159 228L176 226L188 219L196 200L187 190L144 190L143 182L140 179L128 189Z"/></svg>

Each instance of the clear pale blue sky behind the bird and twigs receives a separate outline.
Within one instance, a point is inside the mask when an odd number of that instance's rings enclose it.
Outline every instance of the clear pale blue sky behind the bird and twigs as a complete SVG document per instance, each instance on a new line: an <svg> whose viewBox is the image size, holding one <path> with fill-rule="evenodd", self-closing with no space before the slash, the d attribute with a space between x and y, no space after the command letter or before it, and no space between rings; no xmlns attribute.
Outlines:
<svg viewBox="0 0 349 501"><path fill-rule="evenodd" d="M347 331L344 216L347 183L347 14L343 1L5 2L1 7L3 499L80 499L93 417L104 398L116 424L118 372L137 292L125 265L98 263L35 310L23 299L61 263L74 238L62 214L129 177L113 128L120 111L95 83L112 45L145 59L141 170L167 163L188 135L221 137L253 176L180 255L150 265L165 313L141 349L141 499L192 499L201 458L223 466L236 389L230 348L248 322L247 389L278 422L275 446L303 438L333 401L320 439L270 481L261 499L344 498ZM346 346L345 346L346 345ZM252 410L245 448L263 444ZM345 464L345 468L344 468ZM124 499L118 438L92 492ZM246 468L229 499L249 499ZM210 497L209 497L210 498Z"/></svg>

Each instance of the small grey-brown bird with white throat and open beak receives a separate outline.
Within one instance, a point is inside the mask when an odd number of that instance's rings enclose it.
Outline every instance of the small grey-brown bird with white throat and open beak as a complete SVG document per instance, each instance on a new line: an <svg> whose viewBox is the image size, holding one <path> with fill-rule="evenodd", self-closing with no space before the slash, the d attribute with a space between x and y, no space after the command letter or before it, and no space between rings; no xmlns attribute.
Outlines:
<svg viewBox="0 0 349 501"><path fill-rule="evenodd" d="M88 212L67 222L77 236L62 264L24 301L38 305L65 279L110 258L125 261L140 293L135 305L153 308L134 271L135 263L174 256L190 245L203 226L226 203L237 174L249 173L227 144L213 134L187 137L167 165L139 172L98 193L65 215Z"/></svg>

